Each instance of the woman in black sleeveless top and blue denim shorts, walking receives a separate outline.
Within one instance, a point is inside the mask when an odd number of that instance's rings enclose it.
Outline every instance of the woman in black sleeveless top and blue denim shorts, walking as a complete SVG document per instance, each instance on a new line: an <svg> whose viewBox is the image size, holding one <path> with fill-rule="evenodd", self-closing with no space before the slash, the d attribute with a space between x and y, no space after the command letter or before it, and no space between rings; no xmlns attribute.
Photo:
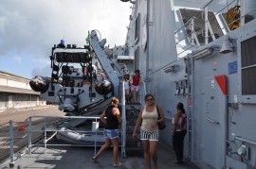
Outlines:
<svg viewBox="0 0 256 169"><path fill-rule="evenodd" d="M102 152L106 150L109 145L113 144L113 154L114 154L114 167L120 166L118 156L119 156L119 123L121 123L121 116L118 109L119 99L117 97L113 97L111 100L110 106L101 114L101 121L105 124L104 128L104 136L105 136L105 144L101 146L101 149L93 157L93 161L97 162ZM105 120L106 117L106 120Z"/></svg>

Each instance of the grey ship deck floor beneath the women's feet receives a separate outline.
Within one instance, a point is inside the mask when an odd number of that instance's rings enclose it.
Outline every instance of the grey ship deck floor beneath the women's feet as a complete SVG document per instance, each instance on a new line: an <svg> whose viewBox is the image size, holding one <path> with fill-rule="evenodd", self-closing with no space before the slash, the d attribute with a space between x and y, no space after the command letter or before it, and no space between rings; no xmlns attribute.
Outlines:
<svg viewBox="0 0 256 169"><path fill-rule="evenodd" d="M99 150L100 146L97 147ZM113 168L113 153L112 148L108 148L101 157L99 162L92 161L92 156L95 153L95 147L85 146L33 146L31 154L23 155L19 160L15 161L13 168L26 169L64 169L64 168ZM175 164L174 150L165 144L159 143L158 150L158 167L160 169L196 169L186 159L182 164ZM119 149L119 168L146 168L143 161L143 150L130 150L126 153L126 157L122 158ZM9 168L9 160L0 164L0 168Z"/></svg>

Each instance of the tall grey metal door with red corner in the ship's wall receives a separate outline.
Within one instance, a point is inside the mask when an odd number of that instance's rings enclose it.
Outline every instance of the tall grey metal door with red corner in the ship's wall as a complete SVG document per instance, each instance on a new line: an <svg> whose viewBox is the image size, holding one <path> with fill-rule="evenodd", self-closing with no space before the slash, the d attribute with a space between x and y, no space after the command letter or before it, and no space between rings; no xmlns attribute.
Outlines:
<svg viewBox="0 0 256 169"><path fill-rule="evenodd" d="M202 158L213 168L225 165L227 78L204 79L202 116Z"/></svg>

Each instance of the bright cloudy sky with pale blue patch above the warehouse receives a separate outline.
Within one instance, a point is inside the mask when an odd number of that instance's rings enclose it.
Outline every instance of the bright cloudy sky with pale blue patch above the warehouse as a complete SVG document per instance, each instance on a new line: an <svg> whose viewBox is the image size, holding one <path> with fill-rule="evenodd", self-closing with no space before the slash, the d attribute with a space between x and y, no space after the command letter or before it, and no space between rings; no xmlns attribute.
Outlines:
<svg viewBox="0 0 256 169"><path fill-rule="evenodd" d="M132 4L120 0L1 0L0 70L32 78L50 76L51 47L82 47L98 29L106 45L123 45Z"/></svg>

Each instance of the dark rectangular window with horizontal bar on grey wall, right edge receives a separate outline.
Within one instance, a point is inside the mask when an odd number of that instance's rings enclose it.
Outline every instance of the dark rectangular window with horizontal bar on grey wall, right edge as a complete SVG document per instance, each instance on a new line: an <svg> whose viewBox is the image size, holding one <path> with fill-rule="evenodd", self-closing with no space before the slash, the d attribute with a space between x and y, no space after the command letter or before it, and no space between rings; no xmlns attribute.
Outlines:
<svg viewBox="0 0 256 169"><path fill-rule="evenodd" d="M256 94L256 37L241 42L242 95Z"/></svg>

